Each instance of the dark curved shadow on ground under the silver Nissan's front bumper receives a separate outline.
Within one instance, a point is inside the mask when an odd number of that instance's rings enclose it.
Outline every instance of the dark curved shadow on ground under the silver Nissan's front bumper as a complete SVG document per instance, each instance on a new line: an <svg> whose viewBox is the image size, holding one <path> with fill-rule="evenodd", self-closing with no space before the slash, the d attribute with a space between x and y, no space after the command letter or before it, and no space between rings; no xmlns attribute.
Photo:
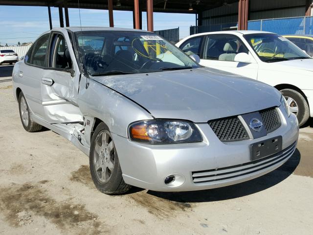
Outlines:
<svg viewBox="0 0 313 235"><path fill-rule="evenodd" d="M296 149L291 158L276 170L237 185L189 192L156 192L149 190L147 193L163 199L184 203L222 201L242 197L270 188L288 178L299 164L300 158L301 154Z"/></svg>

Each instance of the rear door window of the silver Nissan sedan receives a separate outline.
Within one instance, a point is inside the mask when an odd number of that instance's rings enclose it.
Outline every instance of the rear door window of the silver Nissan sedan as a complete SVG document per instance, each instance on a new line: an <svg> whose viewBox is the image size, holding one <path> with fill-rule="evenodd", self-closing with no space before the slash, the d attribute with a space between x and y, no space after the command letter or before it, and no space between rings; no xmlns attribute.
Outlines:
<svg viewBox="0 0 313 235"><path fill-rule="evenodd" d="M40 37L36 43L30 60L30 64L45 67L45 56L48 48L49 34ZM28 58L29 59L29 58Z"/></svg>

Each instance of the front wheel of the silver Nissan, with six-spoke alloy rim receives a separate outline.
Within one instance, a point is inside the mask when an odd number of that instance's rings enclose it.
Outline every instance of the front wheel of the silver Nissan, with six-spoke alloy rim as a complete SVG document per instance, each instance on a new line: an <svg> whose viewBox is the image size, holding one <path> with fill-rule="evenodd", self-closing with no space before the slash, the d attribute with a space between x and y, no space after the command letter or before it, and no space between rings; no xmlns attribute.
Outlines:
<svg viewBox="0 0 313 235"><path fill-rule="evenodd" d="M123 180L112 135L103 122L96 127L91 138L89 165L92 181L99 191L117 195L131 188Z"/></svg>

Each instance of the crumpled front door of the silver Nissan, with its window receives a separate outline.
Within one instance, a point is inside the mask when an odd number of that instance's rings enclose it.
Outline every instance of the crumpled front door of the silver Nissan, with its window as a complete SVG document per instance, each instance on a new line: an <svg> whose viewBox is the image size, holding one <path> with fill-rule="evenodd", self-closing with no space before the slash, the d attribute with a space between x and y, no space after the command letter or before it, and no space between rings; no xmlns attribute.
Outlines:
<svg viewBox="0 0 313 235"><path fill-rule="evenodd" d="M67 32L52 33L49 66L41 79L43 117L49 123L83 121L77 106L79 70L72 55Z"/></svg>

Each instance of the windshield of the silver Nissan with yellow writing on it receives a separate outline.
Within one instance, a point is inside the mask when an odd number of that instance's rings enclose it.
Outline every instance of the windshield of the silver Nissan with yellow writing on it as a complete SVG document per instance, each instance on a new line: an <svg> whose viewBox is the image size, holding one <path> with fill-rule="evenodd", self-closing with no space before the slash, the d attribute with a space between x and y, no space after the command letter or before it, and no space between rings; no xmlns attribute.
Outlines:
<svg viewBox="0 0 313 235"><path fill-rule="evenodd" d="M149 32L76 32L80 63L91 75L198 68L189 56Z"/></svg>

